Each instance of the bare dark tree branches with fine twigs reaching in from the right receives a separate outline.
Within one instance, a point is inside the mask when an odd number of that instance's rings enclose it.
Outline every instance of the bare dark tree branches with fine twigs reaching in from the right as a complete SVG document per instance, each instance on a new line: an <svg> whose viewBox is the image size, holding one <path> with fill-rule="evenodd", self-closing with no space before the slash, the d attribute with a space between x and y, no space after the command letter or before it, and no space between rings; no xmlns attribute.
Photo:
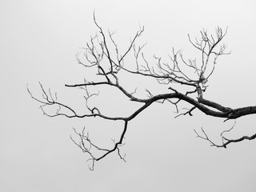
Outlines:
<svg viewBox="0 0 256 192"><path fill-rule="evenodd" d="M47 91L42 84L39 82L42 89L42 98L34 97L34 95L27 89L30 96L40 102L40 106L43 114L49 117L65 116L66 118L102 118L110 121L121 121L123 122L122 134L120 135L118 141L114 141L114 145L107 149L96 145L86 133L85 128L82 132L74 129L75 135L78 136L78 140L72 137L71 140L77 145L82 152L89 154L90 158L88 161L92 161L91 169L94 169L94 162L105 158L107 155L116 151L122 160L125 161L125 157L120 153L120 146L123 145L123 139L125 137L128 124L133 120L138 114L143 110L146 110L154 102L170 102L175 106L177 116L180 115L193 115L194 110L200 110L203 114L210 115L212 117L224 118L224 122L230 119L240 118L244 115L255 114L256 106L246 106L237 109L231 107L222 106L217 102L207 100L203 97L204 92L207 89L207 84L210 77L214 73L215 65L218 57L224 54L230 54L226 52L226 45L221 44L222 39L226 36L227 30L222 30L222 28L217 27L215 34L209 34L206 30L200 31L200 37L192 40L190 35L188 35L188 40L195 49L201 54L199 58L200 62L197 60L186 59L183 57L181 50L172 49L170 57L170 63L162 62L162 58L154 56L154 65L146 59L142 50L145 45L135 46L135 42L141 37L144 27L140 28L134 35L134 38L130 40L130 45L124 51L120 53L117 43L114 41L114 34L109 31L105 33L102 27L98 25L96 18L94 17L94 23L98 28L98 34L90 38L90 42L86 43L84 47L83 56L86 58L86 62L81 61L81 54L77 54L78 63L86 68L96 68L98 73L95 75L100 76L99 81L89 81L87 79L80 84L66 84L66 87L78 87L84 89L86 94L84 98L86 99L86 114L78 114L73 108L67 106L63 102L58 102L57 94L51 94L50 90ZM127 66L125 59L130 53L134 55L134 68ZM191 70L194 73L190 73ZM122 86L119 82L120 75L122 73L130 75L138 75L142 78L154 78L159 84L166 86L168 93L166 94L152 94L150 90L146 90L147 98L138 97L135 91L128 91L126 87ZM180 89L174 89L174 84L179 85ZM115 89L121 91L122 94L130 100L130 102L139 103L140 106L137 110L134 110L127 117L111 117L107 114L103 114L101 110L96 106L90 106L90 98L97 96L98 94L91 94L88 90L91 86L98 86L99 89L102 86L111 86ZM183 90L186 90L185 92ZM179 103L186 102L188 109L179 110ZM58 110L54 114L46 112L45 107L47 106L58 106ZM65 112L64 112L65 111ZM234 126L230 128L233 129ZM254 139L256 134L251 136L243 136L242 138L226 138L223 136L225 132L230 130L225 130L222 132L220 137L222 138L222 143L217 144L210 140L206 131L202 129L202 134L198 134L196 130L195 133L198 138L202 138L210 142L212 146L225 147L233 142L242 142L245 139ZM94 150L101 152L100 155L94 154Z"/></svg>

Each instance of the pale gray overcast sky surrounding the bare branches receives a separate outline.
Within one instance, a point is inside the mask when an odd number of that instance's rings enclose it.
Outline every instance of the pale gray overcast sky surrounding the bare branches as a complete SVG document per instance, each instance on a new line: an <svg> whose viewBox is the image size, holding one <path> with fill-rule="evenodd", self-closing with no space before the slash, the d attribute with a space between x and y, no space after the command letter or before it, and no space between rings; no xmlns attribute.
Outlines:
<svg viewBox="0 0 256 192"><path fill-rule="evenodd" d="M194 58L186 34L202 28L229 27L224 42L232 54L219 58L206 98L225 106L256 105L254 50L256 2L244 1L6 1L0 2L1 191L255 191L255 141L211 147L195 138L203 126L217 142L234 122L195 113L174 119L174 107L153 105L130 123L122 153L111 154L88 170L88 156L70 141L72 126L90 130L98 143L119 131L118 123L47 118L26 92L40 95L38 81L58 92L59 99L82 109L82 92L65 83L82 82L86 69L75 54L94 35L95 10L104 30L116 32L125 49L139 26L146 55L167 58L171 48ZM122 47L123 46L123 47ZM136 86L137 82L130 84ZM157 88L156 88L157 89ZM113 97L113 96L112 96ZM111 108L126 111L116 98ZM102 107L110 103L102 102ZM103 106L104 105L104 106ZM79 108L80 107L80 108ZM255 118L237 121L229 136L255 133Z"/></svg>

